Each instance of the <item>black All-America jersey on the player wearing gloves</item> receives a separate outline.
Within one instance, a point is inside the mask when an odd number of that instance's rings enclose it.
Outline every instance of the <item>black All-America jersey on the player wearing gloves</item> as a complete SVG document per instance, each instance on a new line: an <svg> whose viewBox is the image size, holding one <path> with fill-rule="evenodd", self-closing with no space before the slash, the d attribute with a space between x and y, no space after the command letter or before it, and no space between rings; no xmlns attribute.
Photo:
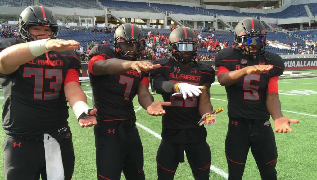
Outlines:
<svg viewBox="0 0 317 180"><path fill-rule="evenodd" d="M153 62L161 67L151 69L151 76L162 75L165 80L171 82L186 82L188 84L201 86L204 83L215 81L215 71L208 64L201 61L193 63L190 67L180 67L172 58L163 58ZM164 106L166 114L163 114L163 128L168 129L195 129L200 128L197 122L201 118L198 111L199 96L187 97L184 100L182 94L162 95L164 101L170 101L171 106Z"/></svg>

